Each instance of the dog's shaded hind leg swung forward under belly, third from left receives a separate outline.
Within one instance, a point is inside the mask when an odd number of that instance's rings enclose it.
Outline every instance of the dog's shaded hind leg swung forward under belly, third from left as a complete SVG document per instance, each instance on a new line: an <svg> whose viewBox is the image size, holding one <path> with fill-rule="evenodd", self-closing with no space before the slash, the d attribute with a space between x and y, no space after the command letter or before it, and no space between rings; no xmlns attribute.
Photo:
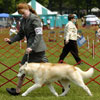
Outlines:
<svg viewBox="0 0 100 100"><path fill-rule="evenodd" d="M70 90L70 82L69 80L61 80L60 81L62 86L64 87L64 92L62 94L60 94L59 96L65 96L68 91Z"/></svg>

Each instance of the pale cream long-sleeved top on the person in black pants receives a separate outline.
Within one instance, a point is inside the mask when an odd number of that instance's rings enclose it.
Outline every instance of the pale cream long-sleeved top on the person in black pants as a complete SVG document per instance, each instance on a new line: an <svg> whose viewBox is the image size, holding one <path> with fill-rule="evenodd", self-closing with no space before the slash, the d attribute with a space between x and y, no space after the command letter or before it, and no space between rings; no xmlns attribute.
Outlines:
<svg viewBox="0 0 100 100"><path fill-rule="evenodd" d="M69 21L64 29L64 40L77 40L77 28L72 21Z"/></svg>

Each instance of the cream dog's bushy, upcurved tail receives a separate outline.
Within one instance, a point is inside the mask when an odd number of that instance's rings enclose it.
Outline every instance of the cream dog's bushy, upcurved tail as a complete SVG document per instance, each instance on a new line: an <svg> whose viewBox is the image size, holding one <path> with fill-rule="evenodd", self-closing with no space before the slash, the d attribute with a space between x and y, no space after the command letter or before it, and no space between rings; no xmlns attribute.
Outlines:
<svg viewBox="0 0 100 100"><path fill-rule="evenodd" d="M93 73L94 73L94 69L93 68L90 68L88 71L82 71L80 68L78 68L78 67L75 67L78 71L79 71L79 73L82 75L82 78L83 79L87 79L87 78L90 78L92 75L93 75Z"/></svg>

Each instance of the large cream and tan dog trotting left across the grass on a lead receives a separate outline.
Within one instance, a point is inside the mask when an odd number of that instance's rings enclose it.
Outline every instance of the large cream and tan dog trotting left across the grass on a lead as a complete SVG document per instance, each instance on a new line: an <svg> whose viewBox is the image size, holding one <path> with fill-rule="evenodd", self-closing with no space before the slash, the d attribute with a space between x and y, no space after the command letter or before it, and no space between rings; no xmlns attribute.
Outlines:
<svg viewBox="0 0 100 100"><path fill-rule="evenodd" d="M31 91L42 87L43 84L47 85L50 91L55 96L65 96L69 91L70 82L82 87L89 96L92 96L89 88L85 85L84 79L90 78L93 75L94 69L90 68L88 71L82 71L80 68L69 64L53 64L53 63L25 63L18 73L18 77L23 74L31 75L35 84L28 88L22 96L26 96ZM60 95L55 91L51 83L60 81L64 87L64 92Z"/></svg>

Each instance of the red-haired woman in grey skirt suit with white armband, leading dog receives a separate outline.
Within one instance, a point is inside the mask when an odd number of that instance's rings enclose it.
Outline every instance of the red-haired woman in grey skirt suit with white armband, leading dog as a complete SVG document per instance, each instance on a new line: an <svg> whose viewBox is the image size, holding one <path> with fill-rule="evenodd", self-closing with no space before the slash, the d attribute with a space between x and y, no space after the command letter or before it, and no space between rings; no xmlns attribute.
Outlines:
<svg viewBox="0 0 100 100"><path fill-rule="evenodd" d="M43 40L43 31L41 20L36 14L35 10L27 3L20 3L17 6L18 13L22 15L20 30L13 38L5 38L4 41L12 44L16 41L22 40L25 36L27 39L27 48L25 55L20 63L20 67L25 62L48 62L45 56L46 45ZM7 88L7 92L11 95L19 95L24 81L25 75L19 78L16 88Z"/></svg>

